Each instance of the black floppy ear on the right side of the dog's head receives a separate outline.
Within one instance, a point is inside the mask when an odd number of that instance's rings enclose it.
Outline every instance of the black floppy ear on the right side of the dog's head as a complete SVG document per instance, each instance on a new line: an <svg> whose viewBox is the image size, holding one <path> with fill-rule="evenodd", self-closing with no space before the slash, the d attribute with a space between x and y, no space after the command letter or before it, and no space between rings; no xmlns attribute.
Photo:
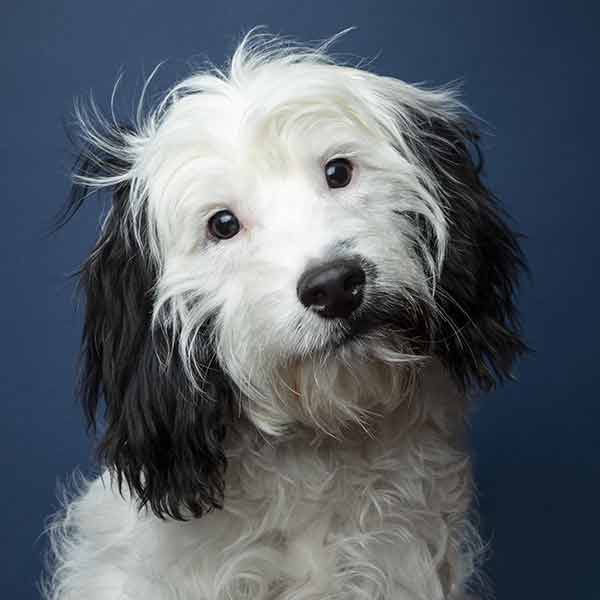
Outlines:
<svg viewBox="0 0 600 600"><path fill-rule="evenodd" d="M526 350L515 307L525 269L518 236L481 180L473 125L427 118L419 124L419 138L416 151L444 195L448 221L431 350L462 386L489 389L510 376Z"/></svg>

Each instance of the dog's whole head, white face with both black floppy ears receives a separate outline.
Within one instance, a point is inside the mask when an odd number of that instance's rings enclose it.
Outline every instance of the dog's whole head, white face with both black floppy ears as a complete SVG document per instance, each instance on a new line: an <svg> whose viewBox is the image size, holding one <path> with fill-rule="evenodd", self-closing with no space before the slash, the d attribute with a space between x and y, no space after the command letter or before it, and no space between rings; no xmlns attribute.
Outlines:
<svg viewBox="0 0 600 600"><path fill-rule="evenodd" d="M104 398L103 458L157 514L220 505L237 411L327 430L378 365L488 388L523 350L521 254L451 91L250 39L135 126L80 116L69 210L112 194L82 270L85 406Z"/></svg>

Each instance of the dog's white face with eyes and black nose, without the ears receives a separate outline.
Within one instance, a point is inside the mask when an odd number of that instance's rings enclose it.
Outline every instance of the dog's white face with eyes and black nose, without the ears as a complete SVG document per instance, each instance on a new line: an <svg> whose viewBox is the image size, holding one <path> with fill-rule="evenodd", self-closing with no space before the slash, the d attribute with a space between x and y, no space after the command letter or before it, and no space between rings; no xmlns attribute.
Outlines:
<svg viewBox="0 0 600 600"><path fill-rule="evenodd" d="M279 367L382 337L414 354L399 320L431 301L447 225L431 177L369 105L379 80L312 63L263 69L239 88L198 82L137 168L160 265L154 313L174 311L190 372L211 321L219 364L272 432L290 420L273 401Z"/></svg>

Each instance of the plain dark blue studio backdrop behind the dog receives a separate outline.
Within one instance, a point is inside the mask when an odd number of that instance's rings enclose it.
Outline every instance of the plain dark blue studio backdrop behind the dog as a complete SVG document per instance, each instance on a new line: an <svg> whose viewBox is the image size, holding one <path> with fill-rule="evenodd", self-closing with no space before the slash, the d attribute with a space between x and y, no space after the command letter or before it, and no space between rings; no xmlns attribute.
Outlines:
<svg viewBox="0 0 600 600"><path fill-rule="evenodd" d="M522 293L536 350L519 382L484 398L474 445L488 574L499 600L598 597L598 3L552 1L6 2L0 63L0 597L37 597L44 518L55 485L90 469L73 398L80 335L66 274L89 250L99 211L54 237L68 187L63 120L75 96L106 106L120 69L130 112L143 77L156 90L205 54L267 24L303 40L347 26L339 51L408 81L465 82L494 128L493 189L527 236ZM82 599L84 600L84 599Z"/></svg>

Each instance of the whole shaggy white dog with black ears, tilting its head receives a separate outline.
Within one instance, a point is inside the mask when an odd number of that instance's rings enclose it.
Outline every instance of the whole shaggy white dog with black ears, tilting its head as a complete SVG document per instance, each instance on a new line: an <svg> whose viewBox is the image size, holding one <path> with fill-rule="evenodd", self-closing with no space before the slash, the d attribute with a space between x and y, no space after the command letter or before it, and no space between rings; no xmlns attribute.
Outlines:
<svg viewBox="0 0 600 600"><path fill-rule="evenodd" d="M466 597L466 419L526 349L525 263L456 89L253 32L132 124L77 114L102 468L45 597Z"/></svg>

